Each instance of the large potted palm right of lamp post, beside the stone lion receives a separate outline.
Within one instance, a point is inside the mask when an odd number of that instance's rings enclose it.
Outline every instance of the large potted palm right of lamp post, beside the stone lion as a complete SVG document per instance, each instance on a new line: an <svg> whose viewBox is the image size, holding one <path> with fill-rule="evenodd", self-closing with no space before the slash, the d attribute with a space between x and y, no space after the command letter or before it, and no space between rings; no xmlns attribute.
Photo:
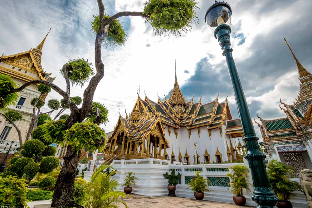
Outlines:
<svg viewBox="0 0 312 208"><path fill-rule="evenodd" d="M291 202L288 201L291 197L296 196L292 192L302 191L298 182L290 180L290 177L295 177L295 169L274 159L270 160L266 167L271 187L280 199L276 206L292 208Z"/></svg>

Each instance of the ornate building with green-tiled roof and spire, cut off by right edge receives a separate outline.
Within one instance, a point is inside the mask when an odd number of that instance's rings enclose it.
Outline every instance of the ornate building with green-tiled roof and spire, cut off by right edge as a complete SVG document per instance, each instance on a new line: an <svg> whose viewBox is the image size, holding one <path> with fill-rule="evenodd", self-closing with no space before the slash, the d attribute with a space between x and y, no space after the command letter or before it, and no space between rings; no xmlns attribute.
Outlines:
<svg viewBox="0 0 312 208"><path fill-rule="evenodd" d="M295 168L299 173L302 169L312 169L311 133L312 133L312 75L292 53L298 67L300 90L294 104L285 104L280 99L280 109L286 117L265 120L258 116L258 124L266 152Z"/></svg>

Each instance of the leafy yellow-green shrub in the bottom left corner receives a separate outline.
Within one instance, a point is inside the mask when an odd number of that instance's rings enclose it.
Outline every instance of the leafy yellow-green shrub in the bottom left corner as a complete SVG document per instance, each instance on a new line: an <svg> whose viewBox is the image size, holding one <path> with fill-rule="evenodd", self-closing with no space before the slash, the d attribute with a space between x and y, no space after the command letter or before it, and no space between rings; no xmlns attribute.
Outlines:
<svg viewBox="0 0 312 208"><path fill-rule="evenodd" d="M27 188L25 179L15 177L0 178L0 206L27 207Z"/></svg>

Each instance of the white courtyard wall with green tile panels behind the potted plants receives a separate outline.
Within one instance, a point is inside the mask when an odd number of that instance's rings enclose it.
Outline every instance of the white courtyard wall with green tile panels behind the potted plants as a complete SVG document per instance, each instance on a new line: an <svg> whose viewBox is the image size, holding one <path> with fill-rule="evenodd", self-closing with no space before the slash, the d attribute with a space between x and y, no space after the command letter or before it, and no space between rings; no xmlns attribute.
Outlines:
<svg viewBox="0 0 312 208"><path fill-rule="evenodd" d="M268 157L267 157L268 159ZM179 162L159 160L154 158L149 159L133 159L133 160L114 160L112 165L114 169L119 171L114 178L118 181L118 189L123 191L125 173L134 172L138 180L133 185L134 194L142 196L167 196L168 180L163 178L163 173L170 173L172 169L175 169L176 173L181 173L181 181L177 184L175 191L176 195L185 198L194 198L192 191L187 190L187 184L195 177L195 171L201 171L201 175L204 178L208 178L211 181L209 186L209 192L205 192L204 200L219 201L234 203L232 199L231 189L228 187L229 178L226 176L230 167L233 165L240 164L248 166L248 162L244 159L244 163L227 163L227 164L198 164L198 165L181 165ZM92 175L92 171L84 171L84 178L88 181ZM299 178L293 178L293 180L299 182ZM256 206L256 203L251 200L253 191L251 175L248 181L251 191L244 191L246 197L247 206ZM307 202L305 195L301 192L294 192L297 196L290 201L294 208L306 208Z"/></svg>

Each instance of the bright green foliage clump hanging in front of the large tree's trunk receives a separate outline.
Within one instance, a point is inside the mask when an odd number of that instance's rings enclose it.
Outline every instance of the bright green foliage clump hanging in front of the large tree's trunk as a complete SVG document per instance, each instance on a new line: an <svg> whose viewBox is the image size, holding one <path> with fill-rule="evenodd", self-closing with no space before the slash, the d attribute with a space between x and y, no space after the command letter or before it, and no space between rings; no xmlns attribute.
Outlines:
<svg viewBox="0 0 312 208"><path fill-rule="evenodd" d="M77 151L103 151L105 148L105 132L97 124L86 121L75 123L65 131L64 141Z"/></svg>

